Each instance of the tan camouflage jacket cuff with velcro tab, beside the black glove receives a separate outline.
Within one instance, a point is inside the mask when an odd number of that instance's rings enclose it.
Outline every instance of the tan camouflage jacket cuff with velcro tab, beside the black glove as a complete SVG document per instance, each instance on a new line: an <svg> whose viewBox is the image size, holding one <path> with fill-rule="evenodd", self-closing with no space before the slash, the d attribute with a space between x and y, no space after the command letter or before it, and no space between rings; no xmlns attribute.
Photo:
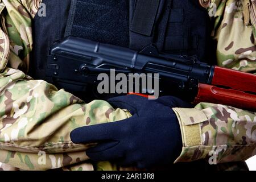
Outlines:
<svg viewBox="0 0 256 182"><path fill-rule="evenodd" d="M189 162L197 159L197 153L202 146L201 123L208 121L203 111L192 108L173 108L181 129L183 149L177 162Z"/></svg>

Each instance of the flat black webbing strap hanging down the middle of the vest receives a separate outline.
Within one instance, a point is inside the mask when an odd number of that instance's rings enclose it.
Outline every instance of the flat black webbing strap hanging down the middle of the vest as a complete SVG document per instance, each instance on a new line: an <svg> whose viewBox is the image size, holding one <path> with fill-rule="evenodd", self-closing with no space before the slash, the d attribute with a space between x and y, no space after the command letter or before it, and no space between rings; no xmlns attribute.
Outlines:
<svg viewBox="0 0 256 182"><path fill-rule="evenodd" d="M158 13L160 0L137 0L130 30L150 36Z"/></svg>

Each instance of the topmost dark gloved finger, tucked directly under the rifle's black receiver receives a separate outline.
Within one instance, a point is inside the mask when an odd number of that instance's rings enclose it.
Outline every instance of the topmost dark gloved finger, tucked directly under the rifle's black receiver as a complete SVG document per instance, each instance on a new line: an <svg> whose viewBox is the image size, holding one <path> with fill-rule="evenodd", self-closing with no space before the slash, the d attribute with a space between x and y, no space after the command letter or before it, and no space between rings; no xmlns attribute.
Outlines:
<svg viewBox="0 0 256 182"><path fill-rule="evenodd" d="M120 97L113 97L108 100L109 104L121 109L127 109L131 114L138 113L137 109L141 108L147 98L137 95L127 95Z"/></svg>

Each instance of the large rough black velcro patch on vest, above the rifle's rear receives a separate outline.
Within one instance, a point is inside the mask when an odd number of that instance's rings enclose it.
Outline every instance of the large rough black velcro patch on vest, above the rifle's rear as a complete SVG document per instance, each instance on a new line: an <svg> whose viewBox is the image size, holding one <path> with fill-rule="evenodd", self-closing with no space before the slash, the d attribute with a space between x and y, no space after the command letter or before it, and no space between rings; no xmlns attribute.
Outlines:
<svg viewBox="0 0 256 182"><path fill-rule="evenodd" d="M129 46L128 0L73 0L66 36Z"/></svg>

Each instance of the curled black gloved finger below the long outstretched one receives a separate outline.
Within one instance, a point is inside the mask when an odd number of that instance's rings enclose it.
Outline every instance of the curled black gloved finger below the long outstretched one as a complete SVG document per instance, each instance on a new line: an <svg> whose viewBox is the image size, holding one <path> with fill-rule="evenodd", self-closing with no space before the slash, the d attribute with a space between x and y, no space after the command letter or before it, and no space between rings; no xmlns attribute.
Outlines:
<svg viewBox="0 0 256 182"><path fill-rule="evenodd" d="M118 146L110 147L111 145L112 144L110 144L109 146L108 144L98 144L96 147L86 150L86 155L95 162L121 159L124 152L122 150L118 150ZM102 148L106 147L110 148L106 150L101 150Z"/></svg>

